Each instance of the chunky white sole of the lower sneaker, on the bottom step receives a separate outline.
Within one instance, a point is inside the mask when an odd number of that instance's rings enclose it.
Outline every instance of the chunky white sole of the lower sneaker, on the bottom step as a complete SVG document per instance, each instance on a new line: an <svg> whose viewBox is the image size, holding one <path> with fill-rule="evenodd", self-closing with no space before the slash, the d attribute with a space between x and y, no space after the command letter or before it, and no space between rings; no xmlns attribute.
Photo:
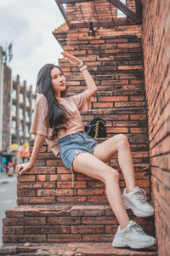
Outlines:
<svg viewBox="0 0 170 256"><path fill-rule="evenodd" d="M141 249L141 248L146 248L146 247L152 247L156 245L156 240L153 239L152 241L145 243L145 244L137 244L133 241L122 241L119 239L114 239L112 241L112 246L113 247L131 247L133 249Z"/></svg>

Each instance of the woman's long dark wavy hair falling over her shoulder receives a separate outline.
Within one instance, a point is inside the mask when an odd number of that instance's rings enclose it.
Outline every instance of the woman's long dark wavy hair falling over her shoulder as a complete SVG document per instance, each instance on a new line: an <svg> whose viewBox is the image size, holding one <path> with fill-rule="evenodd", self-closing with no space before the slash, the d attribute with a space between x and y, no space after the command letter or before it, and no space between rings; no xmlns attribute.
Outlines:
<svg viewBox="0 0 170 256"><path fill-rule="evenodd" d="M51 84L50 72L54 67L59 68L51 63L46 64L40 69L37 75L37 93L42 93L48 102L48 115L44 122L53 129L51 139L57 137L60 129L66 130L68 126L67 121L71 119L71 113L69 113L64 106L59 104ZM59 71L63 73L60 68ZM65 96L65 91L61 91L61 97L63 96Z"/></svg>

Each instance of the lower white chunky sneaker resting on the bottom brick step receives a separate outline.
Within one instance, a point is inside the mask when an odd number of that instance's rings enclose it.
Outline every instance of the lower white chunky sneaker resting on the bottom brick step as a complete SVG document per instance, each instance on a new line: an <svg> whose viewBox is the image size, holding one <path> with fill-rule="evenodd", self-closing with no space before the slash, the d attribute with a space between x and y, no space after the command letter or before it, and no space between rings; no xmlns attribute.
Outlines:
<svg viewBox="0 0 170 256"><path fill-rule="evenodd" d="M131 247L133 249L151 247L156 244L156 238L144 233L141 226L130 220L126 228L121 230L118 226L112 241L113 247Z"/></svg>

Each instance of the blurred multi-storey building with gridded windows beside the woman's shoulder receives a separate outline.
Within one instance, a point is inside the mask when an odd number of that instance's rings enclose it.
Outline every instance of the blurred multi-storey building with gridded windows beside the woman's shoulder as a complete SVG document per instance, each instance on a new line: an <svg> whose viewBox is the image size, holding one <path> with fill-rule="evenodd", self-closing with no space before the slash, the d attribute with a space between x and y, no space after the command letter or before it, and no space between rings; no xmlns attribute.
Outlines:
<svg viewBox="0 0 170 256"><path fill-rule="evenodd" d="M28 143L31 139L29 133L31 127L31 119L33 106L35 105L36 93L32 90L32 86L26 86L26 81L20 83L20 76L13 80L12 90L12 123L11 135L12 145L17 144L15 149L20 147L20 158L27 159Z"/></svg>

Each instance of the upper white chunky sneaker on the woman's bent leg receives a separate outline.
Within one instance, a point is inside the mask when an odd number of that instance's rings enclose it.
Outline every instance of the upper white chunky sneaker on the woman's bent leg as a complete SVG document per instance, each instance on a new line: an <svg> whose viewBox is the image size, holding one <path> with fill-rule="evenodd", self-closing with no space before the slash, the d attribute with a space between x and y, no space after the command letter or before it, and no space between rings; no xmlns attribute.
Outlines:
<svg viewBox="0 0 170 256"><path fill-rule="evenodd" d="M132 192L126 193L127 188L122 193L122 201L125 209L131 209L138 217L147 217L154 214L154 208L147 203L144 189L136 187ZM144 193L143 193L144 192Z"/></svg>

